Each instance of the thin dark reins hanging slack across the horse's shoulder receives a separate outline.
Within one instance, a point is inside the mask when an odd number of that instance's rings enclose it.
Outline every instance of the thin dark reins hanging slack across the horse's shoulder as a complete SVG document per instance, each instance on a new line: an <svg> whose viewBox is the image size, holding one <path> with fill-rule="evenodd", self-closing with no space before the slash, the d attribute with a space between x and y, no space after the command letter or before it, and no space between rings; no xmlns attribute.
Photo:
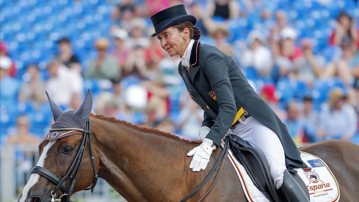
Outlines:
<svg viewBox="0 0 359 202"><path fill-rule="evenodd" d="M201 182L200 185L198 185L191 193L187 194L187 196L185 196L184 198L182 198L182 200L180 202L185 202L188 198L190 198L193 194L195 194L208 180L209 178L213 175L214 171L216 170L216 168L218 167L219 165L219 162L222 160L222 163L219 167L219 170L217 172L217 175L216 175L216 178L213 180L213 183L211 185L211 187L208 189L208 191L204 194L204 196L199 200L199 202L201 202L203 199L206 198L206 196L211 192L214 184L216 183L217 181L217 178L220 174L220 172L222 171L222 168L223 168L223 162L224 162L224 159L227 159L227 152L228 152L228 148L229 148L229 143L228 143L228 138L227 136L224 137L224 147L223 147L223 150L221 152L221 154L219 155L216 163L214 164L212 170L209 172L209 174L206 176L206 178Z"/></svg>

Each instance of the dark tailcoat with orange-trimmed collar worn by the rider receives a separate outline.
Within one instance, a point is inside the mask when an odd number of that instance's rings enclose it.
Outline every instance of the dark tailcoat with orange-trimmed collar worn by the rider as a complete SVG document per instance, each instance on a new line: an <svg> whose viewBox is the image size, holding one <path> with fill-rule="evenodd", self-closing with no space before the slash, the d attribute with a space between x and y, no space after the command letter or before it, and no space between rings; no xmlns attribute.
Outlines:
<svg viewBox="0 0 359 202"><path fill-rule="evenodd" d="M181 62L178 72L192 99L204 110L202 126L211 128L206 138L219 146L237 111L243 107L253 118L278 135L283 144L287 167L307 167L300 159L297 146L282 121L254 92L232 57L196 40L192 46L189 72ZM241 127L241 124L236 127Z"/></svg>

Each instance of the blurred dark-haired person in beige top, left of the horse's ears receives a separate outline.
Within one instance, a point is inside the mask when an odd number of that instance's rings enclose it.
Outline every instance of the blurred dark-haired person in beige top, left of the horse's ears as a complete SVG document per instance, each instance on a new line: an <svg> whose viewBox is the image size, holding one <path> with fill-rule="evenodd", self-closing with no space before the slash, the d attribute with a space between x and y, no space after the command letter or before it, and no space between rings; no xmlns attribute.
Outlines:
<svg viewBox="0 0 359 202"><path fill-rule="evenodd" d="M26 74L29 78L21 86L19 93L20 102L33 102L39 106L46 102L44 97L45 82L39 75L39 68L35 64L30 64L26 68Z"/></svg>

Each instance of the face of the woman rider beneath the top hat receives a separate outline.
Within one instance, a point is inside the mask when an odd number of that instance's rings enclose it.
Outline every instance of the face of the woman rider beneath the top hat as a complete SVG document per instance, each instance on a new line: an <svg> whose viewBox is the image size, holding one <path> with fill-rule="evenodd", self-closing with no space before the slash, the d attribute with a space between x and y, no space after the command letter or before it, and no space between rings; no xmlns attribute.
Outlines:
<svg viewBox="0 0 359 202"><path fill-rule="evenodd" d="M187 31L188 30L188 31ZM189 29L185 28L182 32L175 27L164 29L157 35L161 47L169 56L183 56L187 48L186 41L189 40ZM186 39L185 39L186 37Z"/></svg>

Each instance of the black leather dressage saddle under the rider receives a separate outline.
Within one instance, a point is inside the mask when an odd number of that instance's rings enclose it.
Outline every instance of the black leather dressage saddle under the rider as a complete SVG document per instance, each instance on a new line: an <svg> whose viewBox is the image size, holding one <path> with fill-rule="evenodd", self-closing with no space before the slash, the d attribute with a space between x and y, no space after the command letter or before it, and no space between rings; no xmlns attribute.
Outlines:
<svg viewBox="0 0 359 202"><path fill-rule="evenodd" d="M274 187L273 180L270 175L268 161L264 153L252 147L247 141L235 134L229 134L229 148L234 157L241 163L247 174L250 176L254 185L271 201L280 202L280 196ZM303 180L294 169L287 168L292 177L297 181L304 193L309 198L309 192Z"/></svg>

